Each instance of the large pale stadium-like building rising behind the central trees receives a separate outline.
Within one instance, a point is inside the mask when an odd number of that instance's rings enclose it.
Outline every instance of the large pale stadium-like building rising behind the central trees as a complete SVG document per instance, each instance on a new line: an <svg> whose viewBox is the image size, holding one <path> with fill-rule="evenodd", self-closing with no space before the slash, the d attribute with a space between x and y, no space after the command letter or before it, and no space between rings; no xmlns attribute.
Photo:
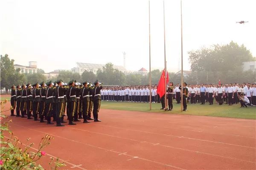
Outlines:
<svg viewBox="0 0 256 170"><path fill-rule="evenodd" d="M83 63L83 62L77 62L77 67L74 67L71 69L71 71L73 73L79 73L80 75L84 72L84 71L92 71L94 74L97 73L98 69L101 69L105 66L103 64L91 64L91 63ZM120 65L113 65L114 69L118 69L119 71L122 71L123 73L126 74L126 70L123 66Z"/></svg>

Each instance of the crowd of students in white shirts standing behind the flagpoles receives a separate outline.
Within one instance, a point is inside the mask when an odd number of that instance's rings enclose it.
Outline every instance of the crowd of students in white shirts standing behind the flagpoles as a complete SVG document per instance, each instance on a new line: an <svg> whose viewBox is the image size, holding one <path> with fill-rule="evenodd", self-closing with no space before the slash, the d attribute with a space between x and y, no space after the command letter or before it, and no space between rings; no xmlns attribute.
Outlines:
<svg viewBox="0 0 256 170"><path fill-rule="evenodd" d="M180 84L174 86L173 99L177 103L180 103ZM201 85L188 85L189 95L187 101L191 104L209 102L209 105L213 105L215 101L222 105L226 103L228 105L238 104L241 100L241 94L249 100L248 105L256 106L256 83L243 83L239 85L225 84L201 84ZM114 102L149 102L150 93L149 85L144 86L121 86L121 87L104 87L101 91L103 101ZM160 102L160 96L157 94L157 85L151 86L151 101Z"/></svg>

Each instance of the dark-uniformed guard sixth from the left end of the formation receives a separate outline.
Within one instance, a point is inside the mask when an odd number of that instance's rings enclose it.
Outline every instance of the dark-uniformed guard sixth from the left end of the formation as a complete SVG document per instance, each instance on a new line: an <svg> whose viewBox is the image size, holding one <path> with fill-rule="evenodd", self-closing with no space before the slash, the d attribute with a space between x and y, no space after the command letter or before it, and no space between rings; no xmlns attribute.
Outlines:
<svg viewBox="0 0 256 170"><path fill-rule="evenodd" d="M39 105L39 117L40 117L40 122L44 123L44 117L45 119L47 119L46 115L45 115L45 102L46 102L46 97L45 97L45 83L41 82L40 83L41 88L39 89L39 94L40 94L40 105Z"/></svg>

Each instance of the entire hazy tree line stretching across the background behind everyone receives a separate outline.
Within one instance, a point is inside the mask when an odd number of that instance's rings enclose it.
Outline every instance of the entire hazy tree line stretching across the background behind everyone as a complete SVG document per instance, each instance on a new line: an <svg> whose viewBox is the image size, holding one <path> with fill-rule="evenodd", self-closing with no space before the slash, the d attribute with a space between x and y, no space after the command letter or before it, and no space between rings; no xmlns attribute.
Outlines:
<svg viewBox="0 0 256 170"><path fill-rule="evenodd" d="M231 41L226 45L212 45L210 48L200 48L189 51L189 63L192 73L184 77L188 84L201 83L230 83L230 82L256 82L256 69L243 71L243 62L255 61L249 50L244 45L238 45ZM70 79L76 79L77 82L94 82L96 79L104 85L148 85L149 73L124 74L122 71L113 68L112 63L107 63L102 69L98 69L96 74L92 71L84 71L81 75L71 71L60 71L58 77L46 79L43 75L44 70L38 69L34 74L20 74L19 69L14 68L14 59L10 59L6 54L1 55L1 89L9 89L12 85L22 85L28 82L47 82L62 79L69 82ZM162 70L151 71L151 83L156 85L160 79ZM180 75L169 73L169 80L174 84L180 83Z"/></svg>

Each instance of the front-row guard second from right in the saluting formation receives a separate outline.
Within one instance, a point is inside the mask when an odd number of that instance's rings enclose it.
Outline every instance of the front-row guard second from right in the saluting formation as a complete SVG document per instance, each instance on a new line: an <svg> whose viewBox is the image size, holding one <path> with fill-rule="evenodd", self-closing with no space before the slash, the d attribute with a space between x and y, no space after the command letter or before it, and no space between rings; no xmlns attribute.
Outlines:
<svg viewBox="0 0 256 170"><path fill-rule="evenodd" d="M88 88L87 82L82 82L82 85L84 85L83 88L81 88L80 95L82 98L82 114L83 114L83 123L90 123L87 121L87 114L89 111L89 103L90 103L90 97L89 97L89 91L90 89Z"/></svg>

